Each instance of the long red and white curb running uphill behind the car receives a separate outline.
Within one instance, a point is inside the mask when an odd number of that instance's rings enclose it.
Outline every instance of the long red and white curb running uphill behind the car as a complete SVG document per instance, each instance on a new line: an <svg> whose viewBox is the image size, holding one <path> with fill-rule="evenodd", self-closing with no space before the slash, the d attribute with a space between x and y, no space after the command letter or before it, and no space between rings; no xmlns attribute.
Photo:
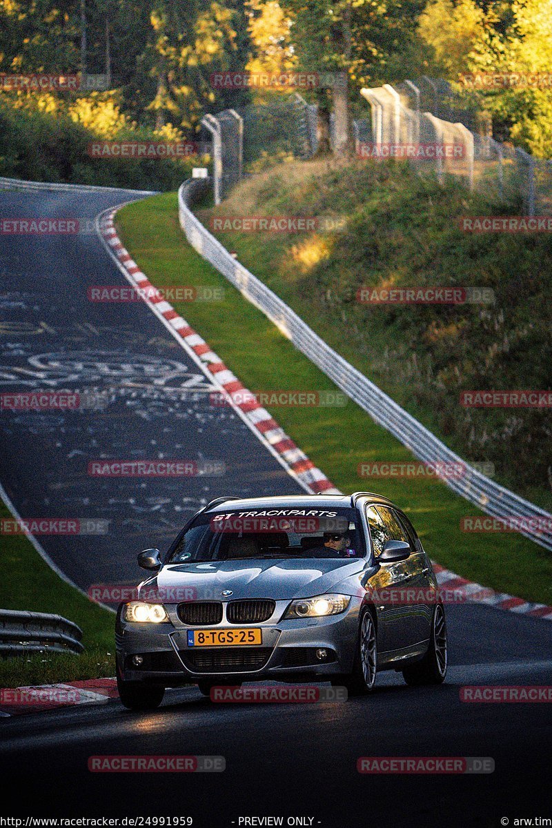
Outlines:
<svg viewBox="0 0 552 828"><path fill-rule="evenodd" d="M151 289L152 296L141 294L143 300L169 323L187 348L199 359L208 376L210 375L210 378L213 378L214 382L226 392L228 402L241 412L242 418L252 426L252 431L255 431L262 442L271 448L272 453L281 460L282 465L290 471L292 476L299 480L305 491L339 494L339 489L336 489L326 475L317 469L312 460L309 460L307 455L295 445L273 416L257 402L252 392L247 391L247 388L240 383L205 340L188 325L169 302L165 301L162 296L155 295L155 286L142 273L118 238L113 226L113 216L117 209L103 214L99 229L108 243L113 258L116 258L122 266L127 281L142 291L147 292Z"/></svg>

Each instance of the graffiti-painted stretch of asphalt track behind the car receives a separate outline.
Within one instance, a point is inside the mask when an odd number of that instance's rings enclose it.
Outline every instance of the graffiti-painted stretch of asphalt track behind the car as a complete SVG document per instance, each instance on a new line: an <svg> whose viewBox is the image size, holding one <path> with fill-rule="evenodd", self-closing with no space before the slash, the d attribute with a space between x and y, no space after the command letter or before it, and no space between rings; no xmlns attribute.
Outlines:
<svg viewBox="0 0 552 828"><path fill-rule="evenodd" d="M0 216L94 219L128 198L3 192ZM0 234L0 393L69 390L104 406L0 413L0 481L21 517L109 521L103 535L40 538L84 590L135 582L137 552L165 550L212 498L303 492L232 409L212 404L214 384L145 303L89 301L96 285L127 282L94 232ZM88 474L98 459L158 458L191 460L208 474Z"/></svg>

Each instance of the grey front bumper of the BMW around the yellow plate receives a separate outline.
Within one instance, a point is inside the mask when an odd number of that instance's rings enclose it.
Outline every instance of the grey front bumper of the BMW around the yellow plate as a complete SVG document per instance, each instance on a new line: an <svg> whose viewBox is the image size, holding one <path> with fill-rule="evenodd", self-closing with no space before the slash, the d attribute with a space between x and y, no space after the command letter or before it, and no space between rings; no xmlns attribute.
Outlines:
<svg viewBox="0 0 552 828"><path fill-rule="evenodd" d="M182 623L176 606L166 606L165 623L128 623L120 619L116 630L118 674L125 681L178 686L200 680L324 681L349 673L358 635L361 601L352 598L338 615L320 619L281 620L288 601L278 602L265 623L219 623L202 629L260 628L262 644L249 647L189 647L187 633L198 627ZM279 618L276 623L274 618ZM325 650L324 660L316 650ZM142 657L142 664L132 662Z"/></svg>

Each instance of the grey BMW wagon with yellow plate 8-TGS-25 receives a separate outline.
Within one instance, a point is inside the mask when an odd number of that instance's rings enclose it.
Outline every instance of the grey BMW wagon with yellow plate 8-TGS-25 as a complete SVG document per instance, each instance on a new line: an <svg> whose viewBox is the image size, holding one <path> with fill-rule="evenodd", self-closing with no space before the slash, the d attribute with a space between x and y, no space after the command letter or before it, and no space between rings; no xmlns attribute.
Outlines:
<svg viewBox="0 0 552 828"><path fill-rule="evenodd" d="M151 709L166 687L331 681L372 691L377 672L439 684L444 607L430 558L386 498L218 498L190 519L117 614L122 704Z"/></svg>

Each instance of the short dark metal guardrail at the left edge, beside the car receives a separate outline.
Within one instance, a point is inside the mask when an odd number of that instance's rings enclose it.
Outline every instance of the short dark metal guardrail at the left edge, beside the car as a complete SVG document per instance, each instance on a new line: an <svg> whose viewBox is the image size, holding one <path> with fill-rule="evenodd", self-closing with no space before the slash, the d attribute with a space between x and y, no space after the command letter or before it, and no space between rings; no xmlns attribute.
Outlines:
<svg viewBox="0 0 552 828"><path fill-rule="evenodd" d="M83 631L61 615L0 609L0 656L27 652L83 652Z"/></svg>

